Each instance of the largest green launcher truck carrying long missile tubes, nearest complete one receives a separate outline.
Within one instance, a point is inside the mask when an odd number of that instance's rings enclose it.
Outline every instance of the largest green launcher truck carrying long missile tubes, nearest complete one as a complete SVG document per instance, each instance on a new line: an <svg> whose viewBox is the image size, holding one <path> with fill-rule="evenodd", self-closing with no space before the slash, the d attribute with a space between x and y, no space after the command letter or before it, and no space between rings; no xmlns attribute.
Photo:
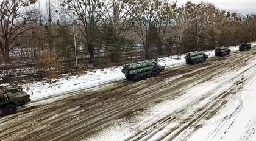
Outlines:
<svg viewBox="0 0 256 141"><path fill-rule="evenodd" d="M145 80L148 77L155 77L159 75L165 69L165 66L161 66L156 61L142 61L138 63L125 64L122 72L129 80Z"/></svg>

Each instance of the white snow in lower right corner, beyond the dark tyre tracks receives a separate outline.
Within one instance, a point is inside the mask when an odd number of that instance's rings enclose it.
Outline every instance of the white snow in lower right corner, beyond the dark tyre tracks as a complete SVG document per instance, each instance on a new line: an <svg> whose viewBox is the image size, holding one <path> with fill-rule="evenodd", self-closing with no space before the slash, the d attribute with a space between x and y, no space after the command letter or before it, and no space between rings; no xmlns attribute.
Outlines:
<svg viewBox="0 0 256 141"><path fill-rule="evenodd" d="M256 140L256 75L189 140Z"/></svg>

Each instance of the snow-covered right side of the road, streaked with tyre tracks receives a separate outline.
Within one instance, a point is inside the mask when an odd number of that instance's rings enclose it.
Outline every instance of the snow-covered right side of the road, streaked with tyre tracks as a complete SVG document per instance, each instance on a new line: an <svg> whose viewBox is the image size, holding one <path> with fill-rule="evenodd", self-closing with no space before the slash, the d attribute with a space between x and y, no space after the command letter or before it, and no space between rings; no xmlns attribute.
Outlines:
<svg viewBox="0 0 256 141"><path fill-rule="evenodd" d="M194 129L192 127L175 136L174 140L256 140L255 70L256 60L238 70L220 74L210 81L193 86L174 100L162 101L148 107L132 119L117 120L112 126L99 132L98 136L85 140L137 140L137 137L140 140L172 140L176 132L170 134L169 131L179 128L185 119L193 117L199 109L204 109L205 105L222 92L229 91L232 86L245 80L251 81L215 117L207 123L202 120L203 127L191 138L187 136ZM174 119L176 116L178 120ZM165 122L168 119L174 120Z"/></svg>

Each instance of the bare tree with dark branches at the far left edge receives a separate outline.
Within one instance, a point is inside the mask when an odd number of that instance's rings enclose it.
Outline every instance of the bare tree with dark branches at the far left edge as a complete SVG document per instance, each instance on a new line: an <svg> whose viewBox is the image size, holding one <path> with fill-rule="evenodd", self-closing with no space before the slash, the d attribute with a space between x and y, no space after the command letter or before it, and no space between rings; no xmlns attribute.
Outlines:
<svg viewBox="0 0 256 141"><path fill-rule="evenodd" d="M33 28L27 26L32 23L32 12L24 10L24 7L35 2L36 0L3 0L0 3L0 49L7 63L10 62L10 50L18 46L15 40Z"/></svg>

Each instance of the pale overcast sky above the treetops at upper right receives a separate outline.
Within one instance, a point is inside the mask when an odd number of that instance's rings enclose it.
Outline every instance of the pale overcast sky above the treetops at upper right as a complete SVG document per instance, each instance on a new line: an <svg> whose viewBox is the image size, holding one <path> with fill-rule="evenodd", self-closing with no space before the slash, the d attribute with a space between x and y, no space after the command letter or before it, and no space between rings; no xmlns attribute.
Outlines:
<svg viewBox="0 0 256 141"><path fill-rule="evenodd" d="M185 4L187 0L177 0L179 5ZM225 10L237 11L243 15L256 13L256 0L190 0L192 2L211 2L217 7Z"/></svg>

